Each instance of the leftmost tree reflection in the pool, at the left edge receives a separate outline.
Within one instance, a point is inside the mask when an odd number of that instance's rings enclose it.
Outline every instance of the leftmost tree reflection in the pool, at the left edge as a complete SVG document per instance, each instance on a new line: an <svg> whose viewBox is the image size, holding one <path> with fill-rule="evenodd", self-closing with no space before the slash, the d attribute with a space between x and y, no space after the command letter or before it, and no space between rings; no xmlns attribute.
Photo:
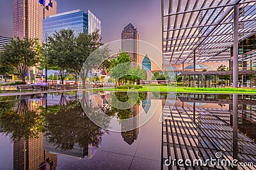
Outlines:
<svg viewBox="0 0 256 170"><path fill-rule="evenodd" d="M15 105L17 108L15 108ZM0 106L0 129L12 140L36 138L42 131L43 118L36 111L29 110L26 99L15 102L8 101Z"/></svg>

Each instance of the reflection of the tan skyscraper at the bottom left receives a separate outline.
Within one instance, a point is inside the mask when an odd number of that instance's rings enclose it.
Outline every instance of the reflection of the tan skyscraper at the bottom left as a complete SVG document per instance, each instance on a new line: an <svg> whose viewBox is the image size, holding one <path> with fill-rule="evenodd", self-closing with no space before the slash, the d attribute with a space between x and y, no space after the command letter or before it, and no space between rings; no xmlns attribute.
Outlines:
<svg viewBox="0 0 256 170"><path fill-rule="evenodd" d="M43 134L38 138L13 141L13 169L56 169L57 155L43 148Z"/></svg>

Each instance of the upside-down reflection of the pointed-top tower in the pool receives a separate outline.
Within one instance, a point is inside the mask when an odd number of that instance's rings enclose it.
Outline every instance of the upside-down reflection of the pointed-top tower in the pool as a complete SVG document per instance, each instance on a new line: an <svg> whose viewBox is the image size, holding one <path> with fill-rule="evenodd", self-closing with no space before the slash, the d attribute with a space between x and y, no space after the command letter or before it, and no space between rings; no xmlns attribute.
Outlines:
<svg viewBox="0 0 256 170"><path fill-rule="evenodd" d="M139 106L135 104L131 108L131 117L132 119L124 120L124 122L121 122L121 135L126 143L129 145L132 145L135 140L138 139L139 134ZM136 118L133 118L136 117ZM128 129L133 129L131 131L127 131Z"/></svg>

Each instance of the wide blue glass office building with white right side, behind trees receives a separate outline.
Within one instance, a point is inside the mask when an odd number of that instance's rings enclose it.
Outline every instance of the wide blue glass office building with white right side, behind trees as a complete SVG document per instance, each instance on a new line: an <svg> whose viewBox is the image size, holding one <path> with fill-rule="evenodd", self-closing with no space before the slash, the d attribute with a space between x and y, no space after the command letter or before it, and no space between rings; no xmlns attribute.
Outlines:
<svg viewBox="0 0 256 170"><path fill-rule="evenodd" d="M99 31L101 35L100 20L91 11L85 13L81 10L68 11L51 15L43 20L43 36L52 36L54 32L61 29L72 29L77 36L80 32L91 34Z"/></svg>

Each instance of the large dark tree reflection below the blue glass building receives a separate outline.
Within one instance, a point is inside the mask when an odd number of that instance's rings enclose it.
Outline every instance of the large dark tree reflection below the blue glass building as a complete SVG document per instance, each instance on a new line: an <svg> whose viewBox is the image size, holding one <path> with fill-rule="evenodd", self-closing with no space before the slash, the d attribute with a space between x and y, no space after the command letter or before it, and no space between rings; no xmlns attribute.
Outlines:
<svg viewBox="0 0 256 170"><path fill-rule="evenodd" d="M70 101L65 106L48 106L47 110L44 110L44 115L45 136L49 143L61 150L72 150L76 144L81 148L88 147L88 144L98 146L104 131L93 124L84 111L97 116L100 110L90 106L83 110L80 101L77 100ZM109 120L102 122L107 128Z"/></svg>

